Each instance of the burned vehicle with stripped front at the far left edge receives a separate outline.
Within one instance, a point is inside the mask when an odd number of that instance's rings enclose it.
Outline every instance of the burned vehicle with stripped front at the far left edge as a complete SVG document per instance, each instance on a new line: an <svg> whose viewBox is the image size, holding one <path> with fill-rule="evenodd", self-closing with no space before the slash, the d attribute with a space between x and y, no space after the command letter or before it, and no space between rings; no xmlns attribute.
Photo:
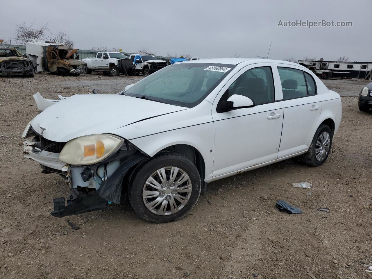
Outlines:
<svg viewBox="0 0 372 279"><path fill-rule="evenodd" d="M0 47L0 76L33 77L31 61L12 47Z"/></svg>

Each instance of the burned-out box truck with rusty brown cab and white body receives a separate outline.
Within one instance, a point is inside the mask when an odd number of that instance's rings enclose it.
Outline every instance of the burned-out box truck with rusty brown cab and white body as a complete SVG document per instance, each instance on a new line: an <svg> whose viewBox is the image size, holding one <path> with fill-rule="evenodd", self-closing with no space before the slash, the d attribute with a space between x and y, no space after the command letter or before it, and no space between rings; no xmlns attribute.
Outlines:
<svg viewBox="0 0 372 279"><path fill-rule="evenodd" d="M67 44L48 41L26 42L26 54L38 72L56 73L62 76L78 76L83 73L85 62L78 59L76 52Z"/></svg>

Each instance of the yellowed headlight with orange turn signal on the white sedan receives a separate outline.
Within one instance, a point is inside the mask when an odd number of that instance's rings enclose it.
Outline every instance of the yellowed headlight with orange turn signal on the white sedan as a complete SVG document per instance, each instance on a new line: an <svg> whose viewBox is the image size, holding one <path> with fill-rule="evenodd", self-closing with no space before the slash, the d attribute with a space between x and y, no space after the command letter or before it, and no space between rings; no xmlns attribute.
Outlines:
<svg viewBox="0 0 372 279"><path fill-rule="evenodd" d="M68 141L58 160L74 166L96 164L117 150L124 140L114 135L89 135Z"/></svg>

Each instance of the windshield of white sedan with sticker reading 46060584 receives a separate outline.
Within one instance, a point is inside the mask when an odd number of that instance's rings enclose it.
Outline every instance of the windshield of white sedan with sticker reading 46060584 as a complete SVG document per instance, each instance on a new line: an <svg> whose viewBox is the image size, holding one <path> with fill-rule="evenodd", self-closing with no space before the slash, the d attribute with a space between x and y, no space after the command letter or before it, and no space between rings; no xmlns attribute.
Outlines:
<svg viewBox="0 0 372 279"><path fill-rule="evenodd" d="M171 105L192 108L227 76L235 65L187 63L167 66L124 92Z"/></svg>

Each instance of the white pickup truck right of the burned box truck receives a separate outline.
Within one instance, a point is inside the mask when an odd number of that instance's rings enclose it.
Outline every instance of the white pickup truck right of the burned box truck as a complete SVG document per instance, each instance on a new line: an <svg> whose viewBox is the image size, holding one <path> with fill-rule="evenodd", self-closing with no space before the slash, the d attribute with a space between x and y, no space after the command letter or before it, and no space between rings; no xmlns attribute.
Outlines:
<svg viewBox="0 0 372 279"><path fill-rule="evenodd" d="M113 77L117 77L119 74L135 75L132 61L121 52L100 51L97 52L96 57L81 60L86 62L84 74L92 74L93 71L96 71Z"/></svg>

